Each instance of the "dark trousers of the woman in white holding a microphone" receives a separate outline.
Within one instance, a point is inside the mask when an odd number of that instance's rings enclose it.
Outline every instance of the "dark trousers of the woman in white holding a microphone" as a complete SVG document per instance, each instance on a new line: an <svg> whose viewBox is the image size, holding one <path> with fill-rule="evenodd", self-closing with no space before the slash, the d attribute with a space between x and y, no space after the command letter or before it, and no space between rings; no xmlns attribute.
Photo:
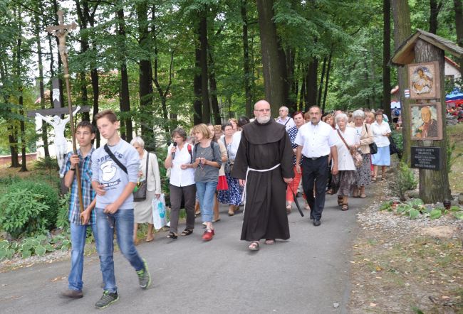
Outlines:
<svg viewBox="0 0 463 314"><path fill-rule="evenodd" d="M196 202L196 185L175 186L170 184L170 232L177 234L179 224L180 206L182 197L184 199L185 211L187 212L187 227L194 229L194 203Z"/></svg>

